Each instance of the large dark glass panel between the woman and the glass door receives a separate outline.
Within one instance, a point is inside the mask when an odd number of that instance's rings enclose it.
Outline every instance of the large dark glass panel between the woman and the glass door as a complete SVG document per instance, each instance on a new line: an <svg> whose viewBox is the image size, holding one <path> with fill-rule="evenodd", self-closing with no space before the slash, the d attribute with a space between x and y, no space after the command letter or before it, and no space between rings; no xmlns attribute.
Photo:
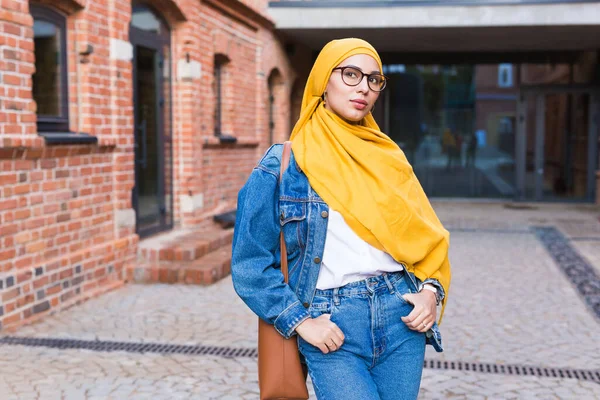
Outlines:
<svg viewBox="0 0 600 400"><path fill-rule="evenodd" d="M514 196L512 67L403 65L384 73L388 133L428 195Z"/></svg>

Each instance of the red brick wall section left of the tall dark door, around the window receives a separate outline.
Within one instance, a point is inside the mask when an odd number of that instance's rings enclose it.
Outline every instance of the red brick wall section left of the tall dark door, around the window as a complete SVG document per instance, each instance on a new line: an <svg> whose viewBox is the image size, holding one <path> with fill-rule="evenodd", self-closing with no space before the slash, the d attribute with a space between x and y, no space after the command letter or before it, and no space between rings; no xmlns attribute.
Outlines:
<svg viewBox="0 0 600 400"><path fill-rule="evenodd" d="M0 96L13 98L0 102L2 327L119 286L137 243L115 220L116 210L131 207L131 66L109 54L110 37L127 38L129 5L41 3L66 16L70 129L99 144L48 147L37 135L29 3L3 2L0 41L11 51L0 67L19 79L0 86ZM79 63L88 44L94 52Z"/></svg>

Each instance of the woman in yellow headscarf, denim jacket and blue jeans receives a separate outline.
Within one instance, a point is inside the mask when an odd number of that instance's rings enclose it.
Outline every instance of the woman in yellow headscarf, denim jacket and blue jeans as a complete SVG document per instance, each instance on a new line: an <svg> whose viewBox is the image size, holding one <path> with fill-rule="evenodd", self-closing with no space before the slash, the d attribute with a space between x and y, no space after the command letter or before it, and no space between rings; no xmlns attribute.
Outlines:
<svg viewBox="0 0 600 400"><path fill-rule="evenodd" d="M442 351L435 319L450 283L449 235L371 115L385 83L369 43L328 43L281 184L275 145L238 198L235 290L281 335L298 336L319 399L415 399L425 344Z"/></svg>

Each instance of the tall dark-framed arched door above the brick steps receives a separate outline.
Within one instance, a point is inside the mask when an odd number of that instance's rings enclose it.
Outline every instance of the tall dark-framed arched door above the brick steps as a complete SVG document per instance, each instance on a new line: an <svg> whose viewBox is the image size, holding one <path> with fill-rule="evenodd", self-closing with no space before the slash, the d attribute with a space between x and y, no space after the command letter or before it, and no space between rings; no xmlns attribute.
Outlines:
<svg viewBox="0 0 600 400"><path fill-rule="evenodd" d="M170 34L148 6L134 5L135 187L132 203L140 237L173 227Z"/></svg>

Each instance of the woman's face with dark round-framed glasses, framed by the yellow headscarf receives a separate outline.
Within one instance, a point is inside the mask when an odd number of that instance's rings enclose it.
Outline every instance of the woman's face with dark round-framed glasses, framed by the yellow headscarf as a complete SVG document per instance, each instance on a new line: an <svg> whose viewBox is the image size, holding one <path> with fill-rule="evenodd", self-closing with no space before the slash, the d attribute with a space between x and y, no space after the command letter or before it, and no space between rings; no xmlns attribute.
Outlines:
<svg viewBox="0 0 600 400"><path fill-rule="evenodd" d="M337 67L354 67L365 74L379 74L379 64L371 56L366 54L356 54L346 58ZM344 79L347 82L360 79L356 72L346 69ZM365 76L356 86L349 86L342 80L342 70L335 69L331 72L331 77L325 89L325 108L336 113L349 123L357 123L362 120L373 109L375 101L379 97L379 92L373 91L367 82ZM373 79L371 86L376 87Z"/></svg>

